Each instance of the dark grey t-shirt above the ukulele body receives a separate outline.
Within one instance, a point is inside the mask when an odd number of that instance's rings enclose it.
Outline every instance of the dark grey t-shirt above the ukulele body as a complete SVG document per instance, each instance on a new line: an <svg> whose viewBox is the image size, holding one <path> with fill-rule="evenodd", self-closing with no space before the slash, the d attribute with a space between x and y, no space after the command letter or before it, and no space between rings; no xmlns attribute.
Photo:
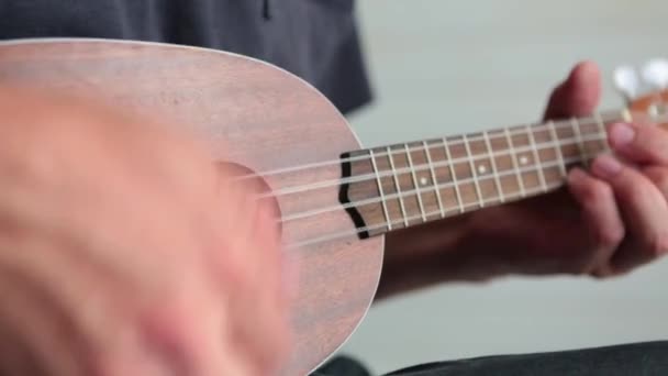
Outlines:
<svg viewBox="0 0 668 376"><path fill-rule="evenodd" d="M104 37L234 52L276 64L342 111L370 100L355 0L0 0L0 38Z"/></svg>

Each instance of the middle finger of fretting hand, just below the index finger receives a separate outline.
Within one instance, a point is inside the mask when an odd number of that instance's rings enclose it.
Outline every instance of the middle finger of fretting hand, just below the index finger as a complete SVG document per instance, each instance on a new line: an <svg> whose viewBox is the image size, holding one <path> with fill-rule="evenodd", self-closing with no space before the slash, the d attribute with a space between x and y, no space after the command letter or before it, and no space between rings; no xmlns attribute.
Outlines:
<svg viewBox="0 0 668 376"><path fill-rule="evenodd" d="M668 251L668 204L663 192L641 172L610 155L597 157L592 173L608 181L626 223L632 246L615 254L622 269L639 266Z"/></svg>

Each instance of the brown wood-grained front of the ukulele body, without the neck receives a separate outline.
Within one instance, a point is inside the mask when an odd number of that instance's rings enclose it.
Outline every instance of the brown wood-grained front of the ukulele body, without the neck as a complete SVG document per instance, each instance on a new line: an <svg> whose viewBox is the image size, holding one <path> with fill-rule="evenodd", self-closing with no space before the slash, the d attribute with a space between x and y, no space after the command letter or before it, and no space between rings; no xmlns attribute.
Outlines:
<svg viewBox="0 0 668 376"><path fill-rule="evenodd" d="M267 172L337 159L359 144L336 109L282 70L190 47L111 41L0 44L0 80L96 96L130 112L159 114L201 136L215 161ZM266 178L271 189L337 179L341 167ZM338 204L338 187L278 197L283 215ZM215 202L212 202L212 210ZM353 231L343 210L283 223L286 242ZM382 239L356 236L290 251L301 265L293 301L296 347L285 375L304 375L350 335L382 264Z"/></svg>

